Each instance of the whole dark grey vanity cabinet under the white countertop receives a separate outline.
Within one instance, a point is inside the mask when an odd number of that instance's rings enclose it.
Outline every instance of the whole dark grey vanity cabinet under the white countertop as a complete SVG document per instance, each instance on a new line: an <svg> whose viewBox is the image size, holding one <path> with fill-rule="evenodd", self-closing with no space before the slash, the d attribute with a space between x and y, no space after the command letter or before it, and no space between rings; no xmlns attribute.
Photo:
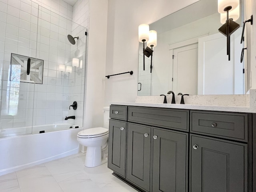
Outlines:
<svg viewBox="0 0 256 192"><path fill-rule="evenodd" d="M252 114L121 107L110 106L108 167L130 186L141 192L253 192Z"/></svg>

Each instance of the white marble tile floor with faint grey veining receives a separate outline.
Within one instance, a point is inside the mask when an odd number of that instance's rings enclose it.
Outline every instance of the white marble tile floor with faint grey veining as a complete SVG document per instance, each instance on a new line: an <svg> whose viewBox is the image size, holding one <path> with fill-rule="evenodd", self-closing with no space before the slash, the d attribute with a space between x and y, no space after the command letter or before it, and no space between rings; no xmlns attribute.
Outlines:
<svg viewBox="0 0 256 192"><path fill-rule="evenodd" d="M107 163L87 168L78 153L0 176L0 192L137 192L112 175Z"/></svg>

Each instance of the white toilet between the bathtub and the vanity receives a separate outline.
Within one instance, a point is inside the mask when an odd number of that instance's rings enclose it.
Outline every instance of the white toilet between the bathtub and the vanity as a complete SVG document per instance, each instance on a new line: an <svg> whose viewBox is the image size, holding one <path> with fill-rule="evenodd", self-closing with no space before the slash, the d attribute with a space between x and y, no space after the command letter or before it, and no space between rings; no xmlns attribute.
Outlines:
<svg viewBox="0 0 256 192"><path fill-rule="evenodd" d="M96 167L108 161L109 107L104 107L104 128L89 128L78 132L77 141L86 146L84 166Z"/></svg>

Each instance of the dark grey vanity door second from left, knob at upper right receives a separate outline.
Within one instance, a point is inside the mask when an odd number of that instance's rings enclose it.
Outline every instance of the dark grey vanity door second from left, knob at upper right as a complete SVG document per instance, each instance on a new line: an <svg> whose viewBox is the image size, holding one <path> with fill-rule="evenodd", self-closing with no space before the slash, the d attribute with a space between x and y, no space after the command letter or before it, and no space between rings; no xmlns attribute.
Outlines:
<svg viewBox="0 0 256 192"><path fill-rule="evenodd" d="M126 178L149 191L151 127L128 123Z"/></svg>

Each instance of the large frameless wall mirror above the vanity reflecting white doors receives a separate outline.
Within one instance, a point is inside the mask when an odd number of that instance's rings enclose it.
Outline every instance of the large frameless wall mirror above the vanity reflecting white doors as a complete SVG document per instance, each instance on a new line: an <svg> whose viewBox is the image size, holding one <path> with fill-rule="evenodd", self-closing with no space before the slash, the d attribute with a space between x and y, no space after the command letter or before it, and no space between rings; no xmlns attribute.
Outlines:
<svg viewBox="0 0 256 192"><path fill-rule="evenodd" d="M244 94L246 62L240 63L240 44L243 21L243 0L240 17L235 22L240 28L230 36L231 59L226 54L226 36L218 29L220 14L217 0L200 0L152 24L157 31L157 46L151 57L145 57L143 44L139 47L138 96Z"/></svg>

